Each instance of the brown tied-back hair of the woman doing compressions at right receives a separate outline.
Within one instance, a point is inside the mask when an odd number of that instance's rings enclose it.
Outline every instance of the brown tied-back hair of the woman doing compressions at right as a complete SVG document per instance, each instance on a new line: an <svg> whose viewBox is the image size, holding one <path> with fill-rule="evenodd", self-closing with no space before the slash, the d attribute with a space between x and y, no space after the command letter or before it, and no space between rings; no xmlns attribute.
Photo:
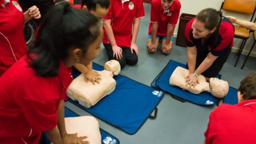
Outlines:
<svg viewBox="0 0 256 144"><path fill-rule="evenodd" d="M214 49L216 47L217 38L219 35L219 28L222 20L221 11L216 11L214 9L208 8L199 12L196 16L196 19L205 24L205 28L208 30L216 30L209 37L209 47Z"/></svg>

